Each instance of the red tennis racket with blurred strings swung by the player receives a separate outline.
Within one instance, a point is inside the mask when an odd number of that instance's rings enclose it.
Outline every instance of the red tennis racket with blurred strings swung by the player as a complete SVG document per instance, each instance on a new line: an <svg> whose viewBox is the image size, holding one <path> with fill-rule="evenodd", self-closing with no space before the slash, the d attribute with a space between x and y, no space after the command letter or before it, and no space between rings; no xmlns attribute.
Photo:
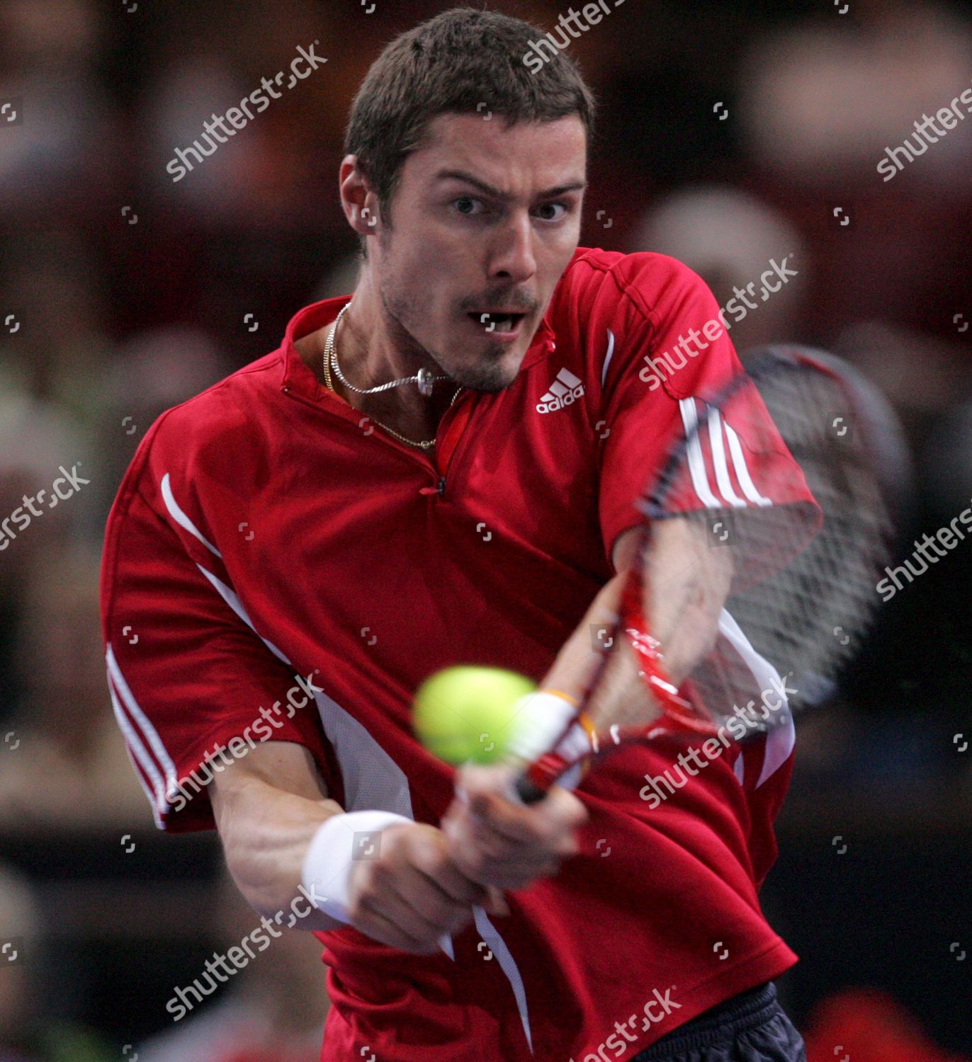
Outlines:
<svg viewBox="0 0 972 1062"><path fill-rule="evenodd" d="M546 717L542 750L529 725L514 742L528 761L516 782L525 803L558 781L576 784L582 765L628 742L745 741L823 703L876 609L893 537L880 472L902 447L874 389L831 355L772 346L680 408L684 432L637 501L635 559L580 703L563 705L553 731ZM645 607L672 538L680 564L696 550L728 585L718 633L701 650L689 611L669 615L656 638ZM621 653L634 654L649 697L604 696ZM679 658L677 685L668 664Z"/></svg>

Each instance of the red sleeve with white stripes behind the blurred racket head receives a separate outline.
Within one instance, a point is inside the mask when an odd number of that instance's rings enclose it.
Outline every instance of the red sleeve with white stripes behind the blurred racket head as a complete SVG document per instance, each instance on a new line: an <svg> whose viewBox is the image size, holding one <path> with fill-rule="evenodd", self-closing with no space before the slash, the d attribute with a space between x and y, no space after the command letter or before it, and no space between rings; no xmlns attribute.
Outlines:
<svg viewBox="0 0 972 1062"><path fill-rule="evenodd" d="M609 562L636 526L637 500L662 473L673 444L707 418L692 467L686 508L809 502L803 475L751 383L728 409L706 406L741 370L732 321L703 280L663 255L625 256L599 299L613 348L601 394L609 433L600 466L599 515ZM613 324L612 324L613 323Z"/></svg>

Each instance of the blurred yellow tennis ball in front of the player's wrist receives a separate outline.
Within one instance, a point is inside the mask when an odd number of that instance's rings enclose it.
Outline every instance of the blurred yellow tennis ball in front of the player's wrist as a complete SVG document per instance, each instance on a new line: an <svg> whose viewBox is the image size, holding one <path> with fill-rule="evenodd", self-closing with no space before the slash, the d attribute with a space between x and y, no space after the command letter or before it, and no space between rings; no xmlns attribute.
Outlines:
<svg viewBox="0 0 972 1062"><path fill-rule="evenodd" d="M415 692L415 733L447 764L492 764L513 732L513 705L536 689L515 671L498 667L447 667Z"/></svg>

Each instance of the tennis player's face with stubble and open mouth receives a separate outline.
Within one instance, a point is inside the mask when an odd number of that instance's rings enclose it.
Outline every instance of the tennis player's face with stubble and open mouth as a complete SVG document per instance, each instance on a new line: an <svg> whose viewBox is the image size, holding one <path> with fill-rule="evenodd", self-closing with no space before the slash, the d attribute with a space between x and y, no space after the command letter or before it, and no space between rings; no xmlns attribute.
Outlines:
<svg viewBox="0 0 972 1062"><path fill-rule="evenodd" d="M585 170L576 115L510 129L500 116L436 118L403 167L392 229L369 251L396 341L463 387L508 387L577 250ZM494 311L512 325L481 320Z"/></svg>

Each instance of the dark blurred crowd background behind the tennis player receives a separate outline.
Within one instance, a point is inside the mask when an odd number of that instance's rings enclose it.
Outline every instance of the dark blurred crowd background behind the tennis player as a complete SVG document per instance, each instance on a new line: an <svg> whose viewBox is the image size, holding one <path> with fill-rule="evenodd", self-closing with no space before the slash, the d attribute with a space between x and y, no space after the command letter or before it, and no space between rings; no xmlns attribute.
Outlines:
<svg viewBox="0 0 972 1062"><path fill-rule="evenodd" d="M545 29L568 6L489 5ZM59 466L90 481L0 544L4 1062L318 1058L309 935L177 1026L165 1010L256 919L214 835L153 826L103 674L101 536L163 410L353 290L347 110L383 44L447 6L0 5L0 519ZM799 275L733 339L824 347L884 392L907 444L886 469L902 556L972 502L972 118L892 179L876 166L972 86L970 15L636 0L572 45L601 103L582 244L673 255L720 305L789 256ZM313 40L327 64L173 183L174 150ZM972 1056L970 592L964 543L802 723L763 898L802 958L781 988L811 1062Z"/></svg>

